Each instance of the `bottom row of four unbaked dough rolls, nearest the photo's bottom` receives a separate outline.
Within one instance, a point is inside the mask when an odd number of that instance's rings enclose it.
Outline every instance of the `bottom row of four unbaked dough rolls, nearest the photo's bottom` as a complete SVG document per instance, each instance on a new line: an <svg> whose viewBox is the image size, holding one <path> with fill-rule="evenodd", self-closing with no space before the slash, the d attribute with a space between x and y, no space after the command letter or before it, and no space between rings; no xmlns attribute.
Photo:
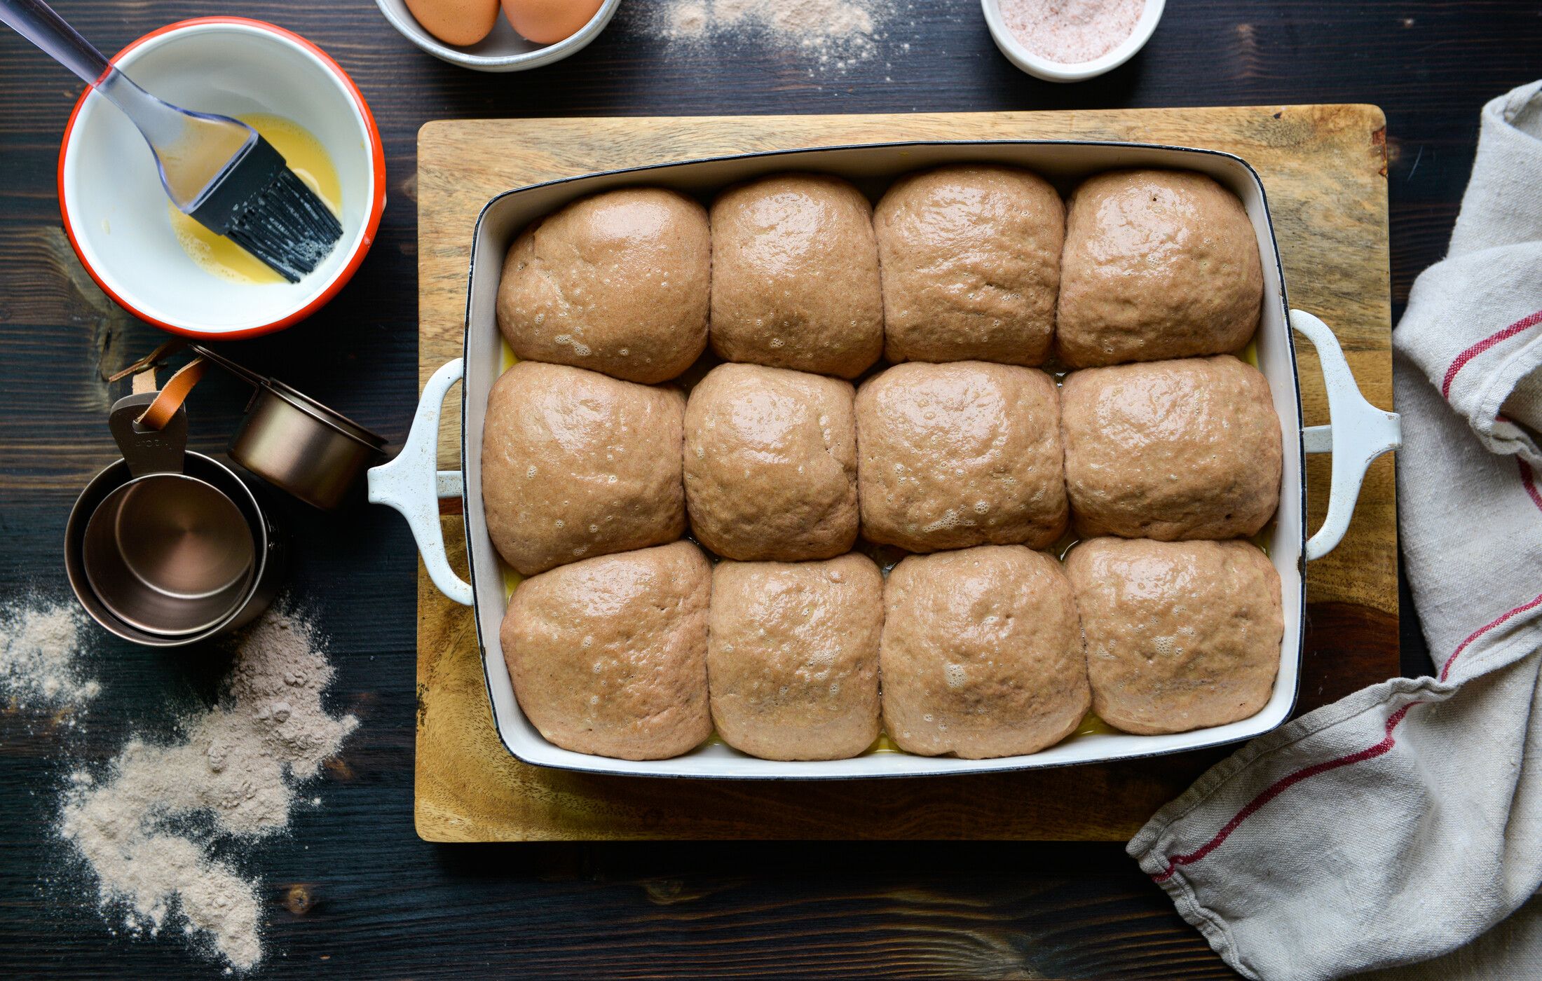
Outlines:
<svg viewBox="0 0 1542 981"><path fill-rule="evenodd" d="M857 756L880 726L922 756L1036 753L1089 708L1181 733L1269 700L1280 578L1246 541L1093 538L720 561L689 541L524 580L500 631L520 708L549 742L666 759L715 728L751 756Z"/></svg>

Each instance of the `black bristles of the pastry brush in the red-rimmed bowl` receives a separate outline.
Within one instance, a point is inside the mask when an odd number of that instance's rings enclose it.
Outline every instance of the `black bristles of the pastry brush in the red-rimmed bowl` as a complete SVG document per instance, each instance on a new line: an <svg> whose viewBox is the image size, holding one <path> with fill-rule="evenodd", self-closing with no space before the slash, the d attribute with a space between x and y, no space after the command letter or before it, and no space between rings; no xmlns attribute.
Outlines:
<svg viewBox="0 0 1542 981"><path fill-rule="evenodd" d="M290 282L321 265L342 238L332 208L261 137L188 214Z"/></svg>

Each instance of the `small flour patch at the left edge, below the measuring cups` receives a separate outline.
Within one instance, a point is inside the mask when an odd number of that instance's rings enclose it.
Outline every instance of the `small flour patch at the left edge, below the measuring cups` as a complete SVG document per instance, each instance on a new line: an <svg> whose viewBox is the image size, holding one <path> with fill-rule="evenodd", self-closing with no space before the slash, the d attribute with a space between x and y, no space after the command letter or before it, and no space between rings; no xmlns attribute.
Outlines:
<svg viewBox="0 0 1542 981"><path fill-rule="evenodd" d="M71 603L0 608L0 688L19 708L80 710L102 693L77 663L85 614Z"/></svg>

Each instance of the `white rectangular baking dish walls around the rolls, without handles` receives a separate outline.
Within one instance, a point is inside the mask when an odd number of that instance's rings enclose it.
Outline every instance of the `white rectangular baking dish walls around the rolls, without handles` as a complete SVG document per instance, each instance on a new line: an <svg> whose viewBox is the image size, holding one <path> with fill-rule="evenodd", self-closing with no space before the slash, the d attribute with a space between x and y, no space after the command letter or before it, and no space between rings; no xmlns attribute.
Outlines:
<svg viewBox="0 0 1542 981"><path fill-rule="evenodd" d="M1255 338L1258 369L1272 389L1274 406L1284 437L1280 509L1268 532L1269 557L1280 572L1284 597L1284 640L1280 648L1280 671L1268 705L1251 719L1192 733L1169 736L1078 734L1032 756L984 760L868 751L843 760L777 762L746 756L714 740L677 759L632 762L572 753L546 742L520 711L503 659L503 648L498 643L498 626L503 622L507 600L498 554L487 535L481 500L483 416L487 392L503 369L503 347L495 313L498 278L503 270L503 256L515 234L530 221L575 197L615 187L654 184L706 199L736 180L783 170L822 170L842 174L854 180L870 196L876 196L902 173L968 160L1027 167L1053 180L1062 191L1069 190L1078 179L1103 170L1119 167L1189 168L1215 177L1237 193L1246 205L1257 231L1264 268L1263 316ZM483 211L478 224L472 245L464 353L461 453L466 474L466 534L476 598L476 631L483 646L483 668L498 737L521 760L594 773L689 777L822 779L987 773L1153 756L1251 739L1284 722L1295 705L1305 611L1301 551L1306 540L1300 386L1295 373L1295 349L1286 322L1284 281L1263 185L1257 174L1234 156L1130 143L908 143L729 157L597 174L523 188L497 197Z"/></svg>

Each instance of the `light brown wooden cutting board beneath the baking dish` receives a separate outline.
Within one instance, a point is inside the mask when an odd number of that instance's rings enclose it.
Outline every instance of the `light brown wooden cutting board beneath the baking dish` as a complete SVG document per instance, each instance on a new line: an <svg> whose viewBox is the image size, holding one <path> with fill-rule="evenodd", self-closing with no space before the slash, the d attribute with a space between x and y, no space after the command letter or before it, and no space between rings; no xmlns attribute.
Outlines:
<svg viewBox="0 0 1542 981"><path fill-rule="evenodd" d="M1365 105L1098 113L509 119L430 122L418 134L419 386L461 353L472 228L489 197L589 171L759 150L910 139L1093 139L1207 147L1263 176L1291 304L1334 327L1362 390L1392 406L1386 128ZM1301 344L1306 423L1328 421ZM452 416L453 413L446 413ZM458 420L441 467L458 466ZM1328 458L1308 466L1312 526ZM444 537L464 574L460 503ZM1392 464L1371 467L1354 524L1308 571L1300 711L1397 673ZM498 742L472 612L418 568L416 825L429 841L1106 839L1123 841L1224 750L1016 774L717 782L527 767Z"/></svg>

